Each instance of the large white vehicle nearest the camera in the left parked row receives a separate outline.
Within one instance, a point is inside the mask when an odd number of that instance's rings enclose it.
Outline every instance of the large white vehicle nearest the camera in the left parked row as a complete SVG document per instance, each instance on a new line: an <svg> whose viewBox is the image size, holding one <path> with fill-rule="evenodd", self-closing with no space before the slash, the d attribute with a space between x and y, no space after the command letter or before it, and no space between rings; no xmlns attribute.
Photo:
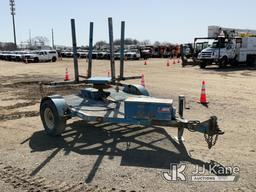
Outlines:
<svg viewBox="0 0 256 192"><path fill-rule="evenodd" d="M23 61L31 62L42 62L42 61L52 61L55 62L58 59L58 53L55 50L40 50L33 51L23 55Z"/></svg>

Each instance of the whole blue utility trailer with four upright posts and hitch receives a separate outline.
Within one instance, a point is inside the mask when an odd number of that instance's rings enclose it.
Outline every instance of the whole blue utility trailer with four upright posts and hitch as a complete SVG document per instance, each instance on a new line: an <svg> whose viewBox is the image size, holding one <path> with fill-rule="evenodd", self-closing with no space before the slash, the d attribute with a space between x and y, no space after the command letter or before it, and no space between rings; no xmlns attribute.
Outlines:
<svg viewBox="0 0 256 192"><path fill-rule="evenodd" d="M90 24L90 27L93 25ZM74 32L74 20L72 20L72 31ZM92 31L92 29L90 29ZM159 99L149 96L148 91L141 85L123 84L126 79L140 78L124 77L124 43L121 45L121 67L120 76L115 76L115 63L113 59L113 30L112 20L109 18L110 32L110 59L111 78L91 77L92 61L89 56L87 77L79 81L77 59L74 58L76 80L67 83L85 83L87 88L78 94L60 96L53 95L42 98L40 105L40 116L45 131L51 136L58 136L65 130L66 121L72 117L79 117L85 121L125 123L143 126L177 127L178 141L182 142L184 129L204 134L210 149L216 144L218 135L224 134L217 124L217 117L212 116L207 121L191 121L183 118L185 97L179 97L179 109L173 106L172 99ZM73 36L75 34L73 33ZM73 40L76 38L73 37ZM92 33L90 33L90 40ZM124 42L124 22L122 22L121 41ZM73 42L76 46L76 42ZM90 43L92 52L92 42ZM112 48L111 48L112 47ZM74 48L76 50L76 48ZM76 56L74 56L76 57ZM63 84L52 83L52 84Z"/></svg>

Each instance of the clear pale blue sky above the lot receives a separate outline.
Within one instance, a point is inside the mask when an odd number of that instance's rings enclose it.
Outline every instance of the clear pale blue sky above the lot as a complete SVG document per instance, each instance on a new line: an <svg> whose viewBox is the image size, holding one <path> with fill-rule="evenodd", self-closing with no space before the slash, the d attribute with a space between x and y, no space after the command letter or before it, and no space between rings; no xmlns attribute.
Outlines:
<svg viewBox="0 0 256 192"><path fill-rule="evenodd" d="M17 42L32 37L71 46L70 18L76 19L78 45L88 44L89 22L94 42L108 41L107 18L113 18L114 37L126 22L126 37L151 42L192 42L207 36L207 26L256 29L255 0L15 0ZM13 41L9 0L0 0L0 41Z"/></svg>

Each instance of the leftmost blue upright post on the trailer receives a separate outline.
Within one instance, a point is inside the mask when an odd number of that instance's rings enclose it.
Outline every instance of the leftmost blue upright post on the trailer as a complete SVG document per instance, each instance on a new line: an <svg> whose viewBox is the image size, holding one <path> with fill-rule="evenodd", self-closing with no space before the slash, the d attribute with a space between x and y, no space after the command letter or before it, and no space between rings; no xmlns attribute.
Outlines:
<svg viewBox="0 0 256 192"><path fill-rule="evenodd" d="M73 43L73 59L74 59L74 69L75 69L75 82L79 83L75 19L71 19L71 32L72 32L72 43Z"/></svg>

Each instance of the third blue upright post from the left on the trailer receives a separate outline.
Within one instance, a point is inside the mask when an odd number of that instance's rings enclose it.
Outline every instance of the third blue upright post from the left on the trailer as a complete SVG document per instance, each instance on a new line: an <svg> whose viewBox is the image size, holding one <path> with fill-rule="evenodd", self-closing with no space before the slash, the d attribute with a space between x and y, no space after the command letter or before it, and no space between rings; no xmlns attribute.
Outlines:
<svg viewBox="0 0 256 192"><path fill-rule="evenodd" d="M113 23L112 18L108 18L108 29L109 29L109 53L110 53L110 68L111 68L111 79L115 81L115 60L114 60L114 45L113 45Z"/></svg>

